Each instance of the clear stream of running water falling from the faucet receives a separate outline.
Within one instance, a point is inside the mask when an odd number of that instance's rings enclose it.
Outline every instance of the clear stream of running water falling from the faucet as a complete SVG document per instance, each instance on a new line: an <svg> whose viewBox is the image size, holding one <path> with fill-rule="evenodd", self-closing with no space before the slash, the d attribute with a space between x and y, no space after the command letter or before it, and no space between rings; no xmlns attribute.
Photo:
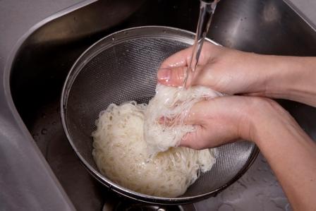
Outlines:
<svg viewBox="0 0 316 211"><path fill-rule="evenodd" d="M183 88L188 88L188 79L193 77L195 67L200 58L202 45L207 35L207 31L209 30L209 25L211 24L212 16L218 2L219 0L200 0L200 16L197 22L197 30L190 64L186 71L186 78L183 80Z"/></svg>

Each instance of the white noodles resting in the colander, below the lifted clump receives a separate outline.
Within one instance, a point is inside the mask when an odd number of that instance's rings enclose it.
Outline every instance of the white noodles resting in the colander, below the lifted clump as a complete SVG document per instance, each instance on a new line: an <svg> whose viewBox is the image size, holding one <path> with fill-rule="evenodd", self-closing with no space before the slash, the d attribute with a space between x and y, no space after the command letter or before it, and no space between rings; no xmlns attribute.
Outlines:
<svg viewBox="0 0 316 211"><path fill-rule="evenodd" d="M104 176L130 190L174 198L186 192L199 172L212 168L212 150L172 147L148 159L143 138L144 104L111 104L100 114L92 155Z"/></svg>

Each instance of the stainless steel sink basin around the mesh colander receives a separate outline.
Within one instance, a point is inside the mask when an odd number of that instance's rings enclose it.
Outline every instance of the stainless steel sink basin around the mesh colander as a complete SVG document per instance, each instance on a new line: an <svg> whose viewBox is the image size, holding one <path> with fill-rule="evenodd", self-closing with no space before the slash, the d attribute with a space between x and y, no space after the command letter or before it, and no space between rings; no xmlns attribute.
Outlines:
<svg viewBox="0 0 316 211"><path fill-rule="evenodd" d="M14 104L78 210L102 210L104 203L107 210L113 210L115 203L133 201L108 191L93 179L66 140L59 100L72 64L92 43L117 30L166 25L194 31L198 8L199 1L189 0L96 1L35 28L21 44L11 68ZM315 30L281 0L221 0L208 37L248 52L316 56ZM315 139L316 109L284 100L280 103ZM290 209L262 155L231 187L194 206L197 210ZM193 210L193 205L183 209Z"/></svg>

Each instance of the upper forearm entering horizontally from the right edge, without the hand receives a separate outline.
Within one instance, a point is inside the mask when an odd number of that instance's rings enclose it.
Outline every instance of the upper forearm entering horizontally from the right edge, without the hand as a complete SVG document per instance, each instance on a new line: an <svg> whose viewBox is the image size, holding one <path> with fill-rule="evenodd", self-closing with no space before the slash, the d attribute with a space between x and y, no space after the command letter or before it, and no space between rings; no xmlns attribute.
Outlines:
<svg viewBox="0 0 316 211"><path fill-rule="evenodd" d="M316 107L316 57L268 56L265 95Z"/></svg>

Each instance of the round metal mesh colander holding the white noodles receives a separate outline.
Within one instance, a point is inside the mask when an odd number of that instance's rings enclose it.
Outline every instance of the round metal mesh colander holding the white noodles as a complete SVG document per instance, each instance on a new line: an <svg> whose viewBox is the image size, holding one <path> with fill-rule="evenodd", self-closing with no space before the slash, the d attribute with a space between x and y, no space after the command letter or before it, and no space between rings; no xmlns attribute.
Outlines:
<svg viewBox="0 0 316 211"><path fill-rule="evenodd" d="M69 142L88 171L105 186L149 203L190 203L216 195L236 181L257 156L253 143L218 148L217 162L185 194L161 198L130 191L102 176L92 157L92 131L99 112L109 104L154 96L157 68L171 54L193 44L192 32L166 27L131 28L104 37L75 62L61 97L61 119ZM210 40L208 40L211 42Z"/></svg>

